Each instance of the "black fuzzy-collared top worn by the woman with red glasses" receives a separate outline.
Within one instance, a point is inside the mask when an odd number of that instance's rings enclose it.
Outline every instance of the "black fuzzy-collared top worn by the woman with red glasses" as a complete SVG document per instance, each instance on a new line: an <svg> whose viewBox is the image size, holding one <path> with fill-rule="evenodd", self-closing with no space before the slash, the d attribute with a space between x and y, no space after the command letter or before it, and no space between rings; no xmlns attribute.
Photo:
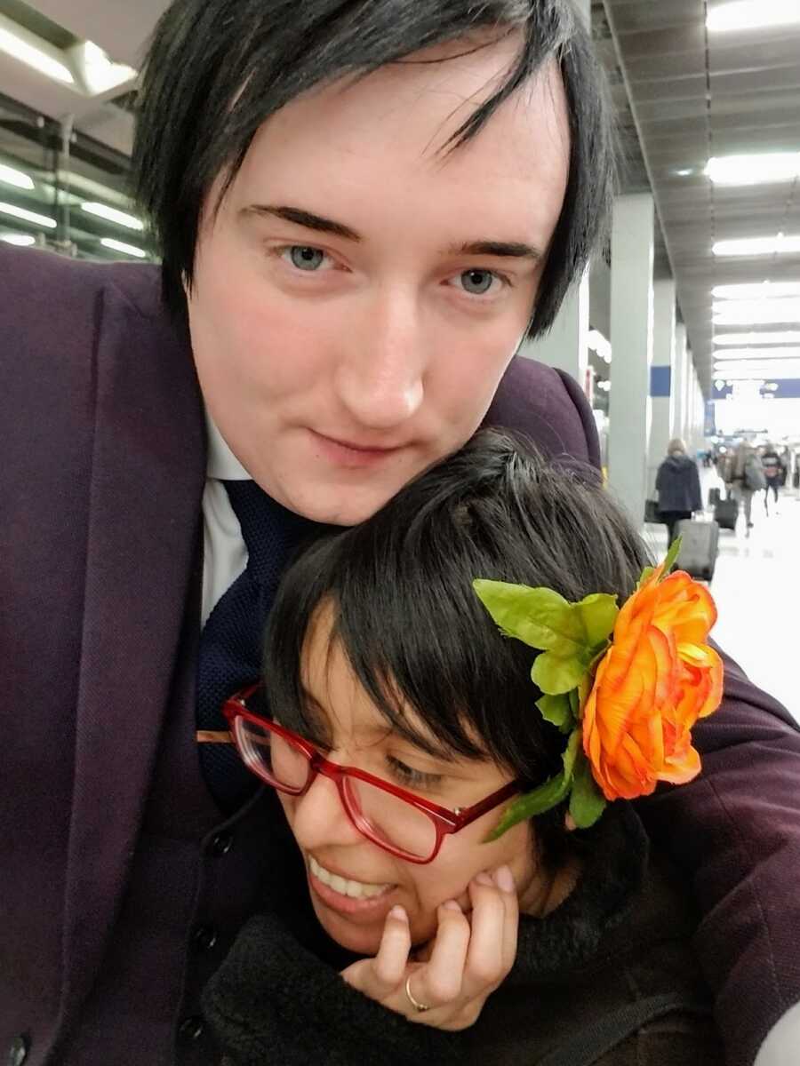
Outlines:
<svg viewBox="0 0 800 1066"><path fill-rule="evenodd" d="M514 967L460 1033L409 1022L339 975L353 956L294 895L252 919L206 989L231 1066L717 1066L708 996L677 879L647 859L615 804L585 835L585 867L543 919L523 917Z"/></svg>

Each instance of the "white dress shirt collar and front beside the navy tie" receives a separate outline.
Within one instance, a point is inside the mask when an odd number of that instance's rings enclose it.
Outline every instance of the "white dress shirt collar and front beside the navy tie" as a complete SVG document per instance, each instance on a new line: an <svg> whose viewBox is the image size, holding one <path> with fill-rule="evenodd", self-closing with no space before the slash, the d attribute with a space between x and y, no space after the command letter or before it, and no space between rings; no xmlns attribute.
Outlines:
<svg viewBox="0 0 800 1066"><path fill-rule="evenodd" d="M230 506L223 481L251 481L206 411L208 465L203 491L203 607L201 625L247 565L239 519Z"/></svg>

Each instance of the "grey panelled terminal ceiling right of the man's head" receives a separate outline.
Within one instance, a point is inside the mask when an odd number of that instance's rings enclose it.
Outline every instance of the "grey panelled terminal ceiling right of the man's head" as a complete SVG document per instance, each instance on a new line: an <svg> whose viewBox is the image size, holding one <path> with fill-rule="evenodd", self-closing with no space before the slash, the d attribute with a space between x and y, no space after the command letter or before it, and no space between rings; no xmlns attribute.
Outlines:
<svg viewBox="0 0 800 1066"><path fill-rule="evenodd" d="M800 232L797 178L721 187L703 174L714 156L800 151L800 26L707 33L706 11L717 5L603 0L593 11L595 33L603 38L604 26L610 31L610 43L601 39L598 47L612 80L622 76L627 90L623 120L633 115L639 134L706 394L714 362L711 288L800 279L800 255L711 254L715 241Z"/></svg>

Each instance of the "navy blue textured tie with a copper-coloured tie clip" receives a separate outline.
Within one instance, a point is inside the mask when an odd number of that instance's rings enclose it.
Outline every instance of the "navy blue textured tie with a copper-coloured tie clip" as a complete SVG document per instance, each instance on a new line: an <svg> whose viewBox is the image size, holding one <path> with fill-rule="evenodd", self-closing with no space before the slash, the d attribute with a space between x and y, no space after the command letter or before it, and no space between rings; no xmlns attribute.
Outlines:
<svg viewBox="0 0 800 1066"><path fill-rule="evenodd" d="M320 527L292 514L254 481L223 482L239 519L247 565L208 616L199 640L197 728L226 730L222 706L259 678L263 627L281 575L298 544ZM225 814L258 788L233 744L199 744L203 774Z"/></svg>

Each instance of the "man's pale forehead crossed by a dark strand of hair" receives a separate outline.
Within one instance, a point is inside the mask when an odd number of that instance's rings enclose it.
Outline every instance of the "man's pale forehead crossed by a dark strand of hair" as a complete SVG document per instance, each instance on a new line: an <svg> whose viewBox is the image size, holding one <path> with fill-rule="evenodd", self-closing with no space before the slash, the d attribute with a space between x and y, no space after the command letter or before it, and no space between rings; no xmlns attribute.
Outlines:
<svg viewBox="0 0 800 1066"><path fill-rule="evenodd" d="M535 176L543 154L569 157L566 106L554 61L512 94L474 141L449 150L461 127L505 83L518 47L509 36L455 58L431 49L315 90L261 126L249 161L267 164L291 155L342 167L388 158L420 174L451 175L468 155L498 177L510 167Z"/></svg>

